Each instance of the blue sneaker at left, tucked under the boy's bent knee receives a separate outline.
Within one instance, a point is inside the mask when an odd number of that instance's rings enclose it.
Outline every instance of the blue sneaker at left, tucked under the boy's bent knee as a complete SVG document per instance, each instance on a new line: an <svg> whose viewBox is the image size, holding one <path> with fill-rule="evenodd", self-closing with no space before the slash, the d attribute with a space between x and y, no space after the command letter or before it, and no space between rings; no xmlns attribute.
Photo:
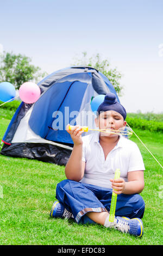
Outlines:
<svg viewBox="0 0 163 256"><path fill-rule="evenodd" d="M59 201L55 201L50 216L53 218L71 218L73 215L70 211L68 211L63 204Z"/></svg>

